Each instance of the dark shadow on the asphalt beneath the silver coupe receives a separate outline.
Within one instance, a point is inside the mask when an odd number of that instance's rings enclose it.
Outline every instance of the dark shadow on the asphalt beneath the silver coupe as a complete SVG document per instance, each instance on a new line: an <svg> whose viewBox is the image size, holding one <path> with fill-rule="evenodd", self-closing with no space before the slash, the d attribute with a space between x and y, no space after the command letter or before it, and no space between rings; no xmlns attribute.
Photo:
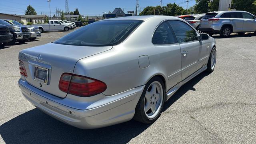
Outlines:
<svg viewBox="0 0 256 144"><path fill-rule="evenodd" d="M202 72L182 86L166 103L163 111L167 110L176 100L188 90L195 90L193 86L209 73ZM20 114L0 126L0 135L7 144L15 143L106 143L124 144L140 133L144 132L151 124L142 124L130 120L122 124L82 130L64 124L44 114L37 108Z"/></svg>

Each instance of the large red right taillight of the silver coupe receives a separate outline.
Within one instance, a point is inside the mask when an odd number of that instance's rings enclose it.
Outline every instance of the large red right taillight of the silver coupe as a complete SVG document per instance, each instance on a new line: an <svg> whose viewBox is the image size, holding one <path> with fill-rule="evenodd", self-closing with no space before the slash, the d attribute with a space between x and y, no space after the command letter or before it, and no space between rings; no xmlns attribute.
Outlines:
<svg viewBox="0 0 256 144"><path fill-rule="evenodd" d="M59 89L76 96L88 97L106 90L104 82L86 76L64 73L60 77Z"/></svg>

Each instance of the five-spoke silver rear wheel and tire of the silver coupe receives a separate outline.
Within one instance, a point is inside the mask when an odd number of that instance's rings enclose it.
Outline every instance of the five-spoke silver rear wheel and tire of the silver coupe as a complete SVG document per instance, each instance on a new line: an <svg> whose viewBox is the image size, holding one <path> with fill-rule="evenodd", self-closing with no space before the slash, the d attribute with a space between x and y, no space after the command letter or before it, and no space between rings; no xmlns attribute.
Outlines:
<svg viewBox="0 0 256 144"><path fill-rule="evenodd" d="M152 78L145 86L135 109L134 120L149 124L162 112L166 98L164 83L159 77Z"/></svg>

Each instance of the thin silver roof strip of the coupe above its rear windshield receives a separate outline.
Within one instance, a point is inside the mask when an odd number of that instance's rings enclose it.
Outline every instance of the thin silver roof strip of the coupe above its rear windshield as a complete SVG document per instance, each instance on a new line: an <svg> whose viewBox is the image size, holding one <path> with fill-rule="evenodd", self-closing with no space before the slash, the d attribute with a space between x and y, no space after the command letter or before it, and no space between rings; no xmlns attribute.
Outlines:
<svg viewBox="0 0 256 144"><path fill-rule="evenodd" d="M174 20L180 20L180 18L177 18L175 16L125 16L125 17L119 17L119 18L109 18L109 19L105 19L105 20L143 20L146 21L148 19L152 19L152 18L162 18L162 20L165 19L174 19ZM104 21L104 20L100 20L100 21Z"/></svg>

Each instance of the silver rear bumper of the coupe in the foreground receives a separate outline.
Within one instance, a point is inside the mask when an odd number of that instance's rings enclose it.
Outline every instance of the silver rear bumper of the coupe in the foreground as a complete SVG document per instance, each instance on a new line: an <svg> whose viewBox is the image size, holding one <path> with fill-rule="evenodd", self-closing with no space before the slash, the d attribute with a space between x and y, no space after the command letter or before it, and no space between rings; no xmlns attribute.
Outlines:
<svg viewBox="0 0 256 144"><path fill-rule="evenodd" d="M111 102L102 103L102 100L90 102L91 105L100 103L100 106L81 110L72 108L72 105L62 104L66 98L48 94L23 79L18 81L18 85L24 97L38 109L57 120L82 129L101 128L131 120L144 89L144 86L139 86L113 96L106 96ZM70 104L78 103L70 100Z"/></svg>

